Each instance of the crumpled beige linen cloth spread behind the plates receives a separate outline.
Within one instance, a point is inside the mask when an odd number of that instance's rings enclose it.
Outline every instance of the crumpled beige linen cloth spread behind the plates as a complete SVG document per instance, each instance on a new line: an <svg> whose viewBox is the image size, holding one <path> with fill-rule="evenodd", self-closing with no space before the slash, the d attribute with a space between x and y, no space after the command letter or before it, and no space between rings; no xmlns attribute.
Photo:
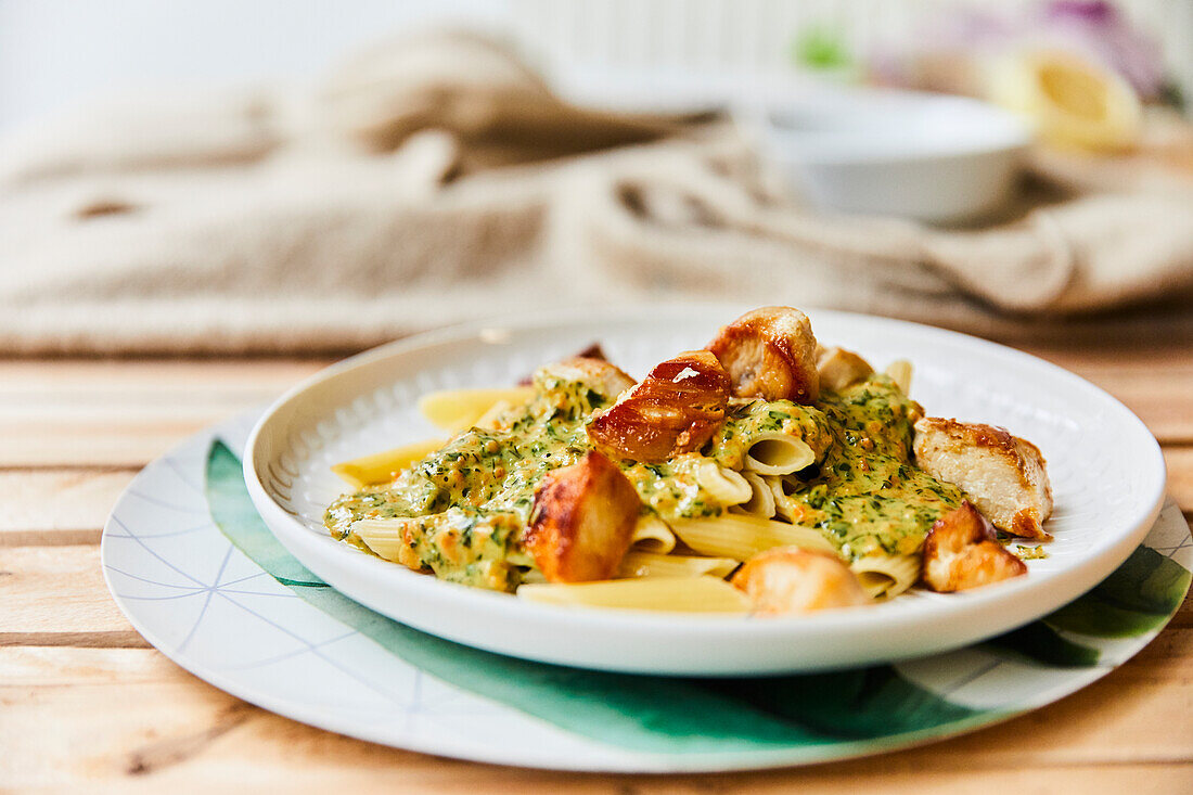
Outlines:
<svg viewBox="0 0 1193 795"><path fill-rule="evenodd" d="M316 87L109 104L0 143L0 344L346 350L676 298L1169 333L1193 327L1182 135L1158 159L1037 158L982 228L837 216L728 122L577 109L505 48L431 35Z"/></svg>

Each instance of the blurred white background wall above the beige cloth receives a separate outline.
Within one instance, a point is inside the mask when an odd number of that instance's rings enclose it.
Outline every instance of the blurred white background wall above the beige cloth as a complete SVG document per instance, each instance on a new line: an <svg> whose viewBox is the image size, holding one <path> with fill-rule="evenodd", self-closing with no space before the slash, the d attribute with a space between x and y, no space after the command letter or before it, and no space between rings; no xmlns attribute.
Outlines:
<svg viewBox="0 0 1193 795"><path fill-rule="evenodd" d="M433 20L508 31L560 82L593 98L666 87L676 75L784 73L795 31L809 21L837 25L866 48L910 35L921 14L976 1L0 0L0 130L128 88L302 79L354 45ZM1193 0L1124 7L1161 37L1193 97Z"/></svg>

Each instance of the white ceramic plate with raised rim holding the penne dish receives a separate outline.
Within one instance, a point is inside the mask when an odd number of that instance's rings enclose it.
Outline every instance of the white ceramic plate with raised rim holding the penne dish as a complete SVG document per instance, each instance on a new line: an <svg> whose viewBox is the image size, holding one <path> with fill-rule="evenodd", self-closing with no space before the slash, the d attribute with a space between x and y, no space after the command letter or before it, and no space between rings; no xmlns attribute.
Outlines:
<svg viewBox="0 0 1193 795"><path fill-rule="evenodd" d="M324 507L344 491L330 466L435 436L415 407L437 389L503 386L599 341L641 376L700 347L747 309L667 306L549 316L424 334L361 353L297 386L253 430L249 494L283 546L332 586L418 629L546 662L665 674L764 674L909 659L1038 618L1098 584L1160 511L1156 440L1101 389L1034 357L894 320L809 313L817 338L878 366L915 365L928 414L1002 425L1049 461L1049 556L1015 580L954 594L914 591L869 609L761 618L569 609L440 583L333 541Z"/></svg>

